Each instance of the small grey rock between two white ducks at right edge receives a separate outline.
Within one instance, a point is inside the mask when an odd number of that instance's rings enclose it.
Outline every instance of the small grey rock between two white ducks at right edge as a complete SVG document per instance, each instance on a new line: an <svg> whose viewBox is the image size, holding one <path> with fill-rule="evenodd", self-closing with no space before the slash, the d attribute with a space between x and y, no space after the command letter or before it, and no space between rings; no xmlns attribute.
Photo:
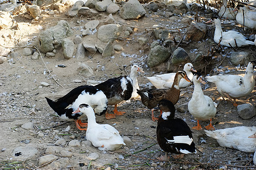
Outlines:
<svg viewBox="0 0 256 170"><path fill-rule="evenodd" d="M256 113L254 112L254 109L253 109L253 105L250 103L238 105L237 113L244 120L252 118L256 115Z"/></svg>

